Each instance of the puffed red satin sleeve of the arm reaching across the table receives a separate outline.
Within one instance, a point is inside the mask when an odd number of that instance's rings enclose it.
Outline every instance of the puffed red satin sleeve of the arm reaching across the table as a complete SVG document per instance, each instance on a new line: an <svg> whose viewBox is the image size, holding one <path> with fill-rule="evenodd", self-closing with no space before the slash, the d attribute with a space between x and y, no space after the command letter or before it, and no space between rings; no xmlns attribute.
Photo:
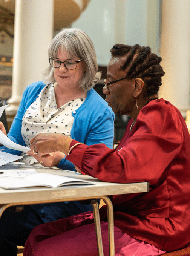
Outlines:
<svg viewBox="0 0 190 256"><path fill-rule="evenodd" d="M117 150L104 144L78 145L66 159L102 181L155 184L181 150L187 127L179 114L168 101L151 101L141 109L131 133L129 123Z"/></svg>

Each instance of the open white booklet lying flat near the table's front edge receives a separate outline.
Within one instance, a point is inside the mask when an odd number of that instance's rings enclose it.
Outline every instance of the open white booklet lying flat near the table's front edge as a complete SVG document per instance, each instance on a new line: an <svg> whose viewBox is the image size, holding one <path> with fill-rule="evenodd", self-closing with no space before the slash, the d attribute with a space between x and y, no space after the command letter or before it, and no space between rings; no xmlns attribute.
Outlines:
<svg viewBox="0 0 190 256"><path fill-rule="evenodd" d="M3 189L21 189L27 187L56 188L68 185L95 185L95 183L49 173L32 174L24 179L16 177L0 178L0 187Z"/></svg>

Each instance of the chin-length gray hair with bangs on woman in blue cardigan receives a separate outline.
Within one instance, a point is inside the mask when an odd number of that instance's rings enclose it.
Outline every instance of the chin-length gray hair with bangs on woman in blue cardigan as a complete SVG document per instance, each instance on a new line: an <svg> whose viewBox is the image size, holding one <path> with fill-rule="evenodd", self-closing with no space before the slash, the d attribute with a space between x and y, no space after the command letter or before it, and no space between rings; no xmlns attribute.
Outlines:
<svg viewBox="0 0 190 256"><path fill-rule="evenodd" d="M66 51L68 58L78 57L86 63L86 72L79 86L85 91L90 90L101 77L98 72L94 45L88 35L77 28L65 28L58 32L49 44L49 57L57 58L59 48ZM55 83L54 68L49 65L43 72L45 84Z"/></svg>

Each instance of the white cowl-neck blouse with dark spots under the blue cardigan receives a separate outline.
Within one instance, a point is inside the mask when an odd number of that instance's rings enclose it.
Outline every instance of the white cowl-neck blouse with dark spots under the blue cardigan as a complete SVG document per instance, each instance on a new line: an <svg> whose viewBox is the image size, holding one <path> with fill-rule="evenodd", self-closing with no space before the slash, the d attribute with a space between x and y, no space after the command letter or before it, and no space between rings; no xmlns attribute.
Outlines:
<svg viewBox="0 0 190 256"><path fill-rule="evenodd" d="M45 86L23 117L21 133L26 147L29 147L30 140L38 133L62 133L70 137L74 121L72 112L77 110L84 100L72 100L57 109L53 84ZM38 163L25 152L21 155L23 158L20 162Z"/></svg>

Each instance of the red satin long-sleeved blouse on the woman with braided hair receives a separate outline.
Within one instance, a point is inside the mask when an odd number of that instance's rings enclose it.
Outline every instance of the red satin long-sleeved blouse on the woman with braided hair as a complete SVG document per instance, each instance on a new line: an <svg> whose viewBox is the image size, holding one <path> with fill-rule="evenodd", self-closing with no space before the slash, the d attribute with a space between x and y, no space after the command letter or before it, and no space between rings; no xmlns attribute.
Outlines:
<svg viewBox="0 0 190 256"><path fill-rule="evenodd" d="M116 150L78 145L66 159L107 182L149 182L150 192L113 195L114 224L171 251L190 242L190 135L179 110L163 99L141 109ZM77 141L72 141L72 147ZM106 216L102 207L101 219Z"/></svg>

